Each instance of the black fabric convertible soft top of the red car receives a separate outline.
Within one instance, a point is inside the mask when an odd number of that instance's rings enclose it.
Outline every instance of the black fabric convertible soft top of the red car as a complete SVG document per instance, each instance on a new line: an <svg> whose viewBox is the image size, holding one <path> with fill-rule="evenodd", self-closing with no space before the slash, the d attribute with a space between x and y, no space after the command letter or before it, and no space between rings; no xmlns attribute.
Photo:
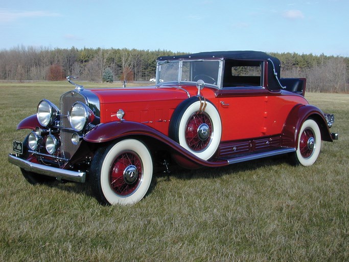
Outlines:
<svg viewBox="0 0 349 262"><path fill-rule="evenodd" d="M216 51L216 52L201 52L188 55L174 55L174 56L159 56L158 61L177 60L177 59L210 59L223 58L234 60L269 60L268 62L268 88L270 90L279 90L281 85L280 79L280 60L276 57L268 55L261 51ZM271 61L271 62L270 62ZM274 75L274 70L278 79Z"/></svg>

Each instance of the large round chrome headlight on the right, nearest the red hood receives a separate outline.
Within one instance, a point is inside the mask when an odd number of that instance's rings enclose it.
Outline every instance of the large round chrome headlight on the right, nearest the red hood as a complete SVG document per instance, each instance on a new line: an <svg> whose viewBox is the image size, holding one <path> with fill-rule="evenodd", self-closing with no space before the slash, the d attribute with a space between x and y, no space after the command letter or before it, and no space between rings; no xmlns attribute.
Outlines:
<svg viewBox="0 0 349 262"><path fill-rule="evenodd" d="M77 132L83 130L87 124L94 121L95 115L90 108L81 102L73 104L69 112L69 122L73 129Z"/></svg>

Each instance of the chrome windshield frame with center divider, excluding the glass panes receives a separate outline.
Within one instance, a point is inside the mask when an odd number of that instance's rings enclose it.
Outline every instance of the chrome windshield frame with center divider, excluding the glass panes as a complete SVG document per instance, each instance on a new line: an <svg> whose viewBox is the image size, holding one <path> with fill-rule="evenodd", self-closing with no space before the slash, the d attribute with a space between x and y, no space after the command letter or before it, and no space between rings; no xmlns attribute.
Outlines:
<svg viewBox="0 0 349 262"><path fill-rule="evenodd" d="M218 79L217 84L211 84L206 83L205 85L212 86L215 89L222 89L223 86L223 69L224 69L224 59L223 58L216 58L216 59L169 59L169 60L163 60L163 61L157 61L156 62L156 85L163 85L163 84L196 84L196 81L183 81L182 78L182 70L183 70L183 62L198 62L198 61L218 61L219 62L219 68L218 68ZM162 79L160 79L160 66L162 64L166 63L172 63L172 62L178 62L178 74L177 74L177 80L174 81L166 81L164 82Z"/></svg>

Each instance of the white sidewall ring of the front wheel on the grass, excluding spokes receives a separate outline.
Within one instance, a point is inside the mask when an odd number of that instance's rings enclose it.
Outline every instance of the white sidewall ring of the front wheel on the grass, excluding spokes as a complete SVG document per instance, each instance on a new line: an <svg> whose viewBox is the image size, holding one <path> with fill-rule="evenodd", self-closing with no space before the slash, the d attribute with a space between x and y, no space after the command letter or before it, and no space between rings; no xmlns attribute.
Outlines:
<svg viewBox="0 0 349 262"><path fill-rule="evenodd" d="M124 151L132 151L136 154L142 162L142 178L139 181L138 187L129 195L123 196L115 193L109 182L109 172L115 158ZM143 199L147 193L153 173L153 164L148 148L140 141L134 139L122 140L118 143L109 146L105 152L102 160L99 176L101 191L106 201L112 205L134 204Z"/></svg>

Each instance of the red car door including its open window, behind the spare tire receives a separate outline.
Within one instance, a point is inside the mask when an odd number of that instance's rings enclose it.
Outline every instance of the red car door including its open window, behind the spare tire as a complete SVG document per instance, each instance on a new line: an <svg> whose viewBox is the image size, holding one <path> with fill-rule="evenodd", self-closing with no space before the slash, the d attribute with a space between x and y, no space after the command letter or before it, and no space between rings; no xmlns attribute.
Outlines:
<svg viewBox="0 0 349 262"><path fill-rule="evenodd" d="M222 141L265 135L267 91L264 61L225 60L223 87L217 92Z"/></svg>

